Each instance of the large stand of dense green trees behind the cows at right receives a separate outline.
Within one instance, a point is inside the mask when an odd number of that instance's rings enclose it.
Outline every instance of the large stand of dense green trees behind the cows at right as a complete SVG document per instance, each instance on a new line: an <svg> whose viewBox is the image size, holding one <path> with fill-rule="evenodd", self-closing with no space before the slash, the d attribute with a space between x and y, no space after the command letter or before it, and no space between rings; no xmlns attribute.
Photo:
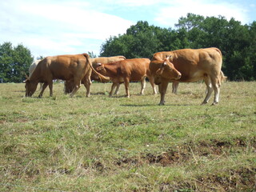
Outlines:
<svg viewBox="0 0 256 192"><path fill-rule="evenodd" d="M234 18L187 14L175 26L166 29L139 21L126 34L106 39L101 56L151 58L164 50L215 46L222 50L222 70L230 80L256 80L256 22L243 26Z"/></svg>

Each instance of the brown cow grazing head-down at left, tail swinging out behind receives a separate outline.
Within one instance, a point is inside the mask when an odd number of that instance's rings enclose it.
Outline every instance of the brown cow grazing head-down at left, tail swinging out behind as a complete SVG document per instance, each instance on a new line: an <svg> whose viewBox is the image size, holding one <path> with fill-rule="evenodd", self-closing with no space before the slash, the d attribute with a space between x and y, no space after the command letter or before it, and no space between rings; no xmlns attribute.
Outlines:
<svg viewBox="0 0 256 192"><path fill-rule="evenodd" d="M38 82L44 82L39 98L47 86L50 88L50 96L53 95L53 80L62 79L74 82L74 89L70 97L78 91L82 78L86 79L86 97L90 96L90 74L94 70L88 54L66 54L46 57L38 63L33 74L26 79L26 97L31 97L38 86ZM96 72L97 73L97 72ZM108 79L98 74L102 79Z"/></svg>

